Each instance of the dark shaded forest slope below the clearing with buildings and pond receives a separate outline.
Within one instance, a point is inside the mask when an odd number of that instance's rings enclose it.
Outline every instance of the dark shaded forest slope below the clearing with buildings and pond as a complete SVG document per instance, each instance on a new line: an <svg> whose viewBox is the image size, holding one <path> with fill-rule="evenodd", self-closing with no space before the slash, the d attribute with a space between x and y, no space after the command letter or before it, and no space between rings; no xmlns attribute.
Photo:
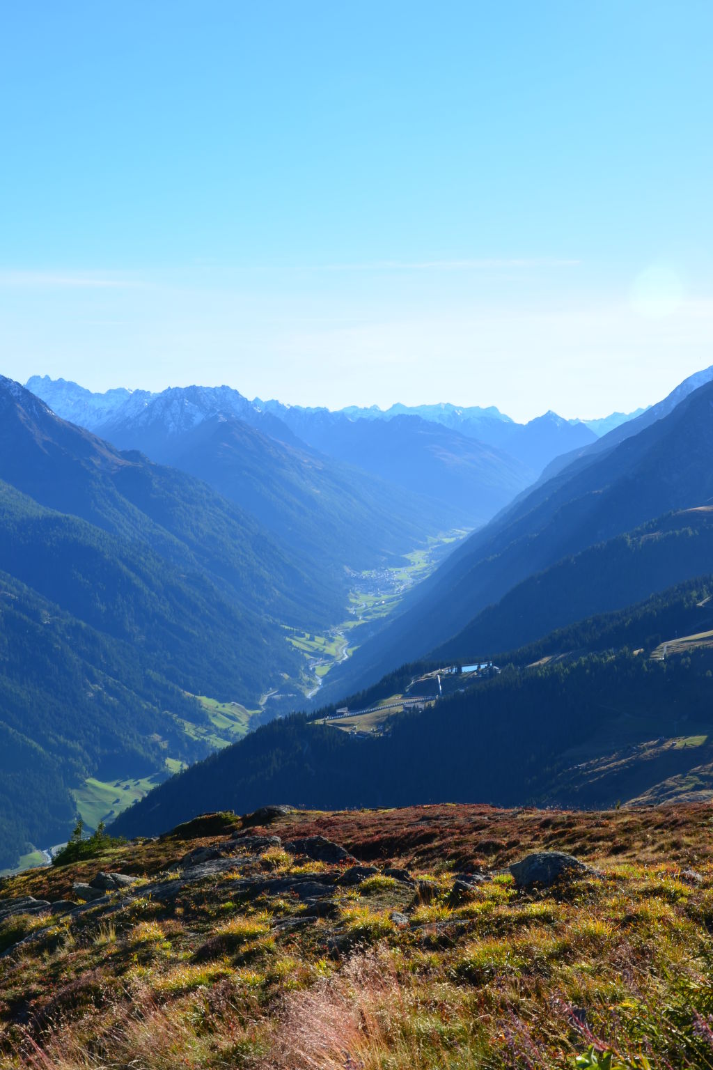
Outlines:
<svg viewBox="0 0 713 1070"><path fill-rule="evenodd" d="M712 668L709 649L666 661L624 652L511 670L435 709L398 715L389 733L366 739L293 716L161 784L113 827L155 835L196 812L239 813L267 798L316 809L443 799L610 807L691 768L696 758L711 761L713 748L686 753L676 739L704 738L713 729ZM680 725L685 717L678 732L677 707ZM660 739L649 753L648 742L661 736L672 746L661 750ZM620 766L620 747L642 748L640 763ZM594 768L607 756L608 773L576 775L577 763Z"/></svg>

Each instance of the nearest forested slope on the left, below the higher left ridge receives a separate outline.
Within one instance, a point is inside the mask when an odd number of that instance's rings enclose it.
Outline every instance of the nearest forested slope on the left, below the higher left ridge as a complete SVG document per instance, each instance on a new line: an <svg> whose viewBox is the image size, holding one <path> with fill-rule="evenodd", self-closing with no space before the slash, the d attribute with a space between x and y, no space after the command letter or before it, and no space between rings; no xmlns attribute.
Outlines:
<svg viewBox="0 0 713 1070"><path fill-rule="evenodd" d="M69 791L167 774L210 749L191 698L257 705L299 657L198 567L0 483L0 868L66 838Z"/></svg>

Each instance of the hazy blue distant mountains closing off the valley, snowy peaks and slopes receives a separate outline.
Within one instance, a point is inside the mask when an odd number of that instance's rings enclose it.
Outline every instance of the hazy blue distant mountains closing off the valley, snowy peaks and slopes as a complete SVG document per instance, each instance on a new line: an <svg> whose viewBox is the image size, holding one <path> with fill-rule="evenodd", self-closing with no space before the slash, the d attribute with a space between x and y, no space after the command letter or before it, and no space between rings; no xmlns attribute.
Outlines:
<svg viewBox="0 0 713 1070"><path fill-rule="evenodd" d="M360 548L342 566L374 567L378 553L369 557L370 547L403 553L428 535L486 522L540 467L534 438L533 467L415 415L352 419L326 409L250 402L228 386L113 392L113 406L106 395L90 395L96 399L90 403L88 392L75 383L34 377L28 386L60 415L76 413L120 448L141 449L153 460L199 474L273 530L277 523L290 531L301 549L317 548L323 560L325 553L334 559L335 539ZM236 421L254 433L238 429ZM496 423L518 428L502 418ZM586 441L593 439L583 425L577 431L559 423L568 435L561 448L582 442L582 431ZM306 508L307 523L298 515ZM324 531L316 541L309 533L315 525Z"/></svg>

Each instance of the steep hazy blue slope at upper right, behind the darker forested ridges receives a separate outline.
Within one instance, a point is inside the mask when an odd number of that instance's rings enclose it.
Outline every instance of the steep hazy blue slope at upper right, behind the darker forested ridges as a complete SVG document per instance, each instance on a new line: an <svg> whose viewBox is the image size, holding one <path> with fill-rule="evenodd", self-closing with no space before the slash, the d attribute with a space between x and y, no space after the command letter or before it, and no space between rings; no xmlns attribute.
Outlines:
<svg viewBox="0 0 713 1070"><path fill-rule="evenodd" d="M404 600L401 614L335 676L329 697L367 686L393 664L435 648L563 557L670 510L712 502L712 411L709 383L584 470L574 464L521 495Z"/></svg>

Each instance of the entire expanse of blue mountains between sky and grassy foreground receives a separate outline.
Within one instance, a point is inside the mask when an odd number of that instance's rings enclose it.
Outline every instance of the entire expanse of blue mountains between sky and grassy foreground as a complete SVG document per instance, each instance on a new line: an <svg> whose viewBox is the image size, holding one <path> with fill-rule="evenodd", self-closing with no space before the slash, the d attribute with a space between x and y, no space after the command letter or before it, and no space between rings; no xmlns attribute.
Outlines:
<svg viewBox="0 0 713 1070"><path fill-rule="evenodd" d="M91 778L156 784L118 821L131 835L176 807L247 808L265 792L325 806L472 798L454 749L480 798L510 800L499 785L514 770L513 799L608 805L619 781L578 777L571 754L609 761L611 709L636 725L635 748L653 725L670 736L665 703L682 696L708 723L706 647L663 668L655 652L661 628L708 623L712 377L601 438L553 413L329 413L228 387L92 395L32 380L58 414L0 379L0 863L60 839ZM355 575L401 567L455 528L476 530L394 613L352 628L321 716L265 724L160 783L227 742L197 697L259 708L305 671L288 638L343 621ZM444 699L439 738L429 706L369 740L314 723L430 667L494 658L497 679ZM655 770L679 775L667 761L637 764L642 792Z"/></svg>

